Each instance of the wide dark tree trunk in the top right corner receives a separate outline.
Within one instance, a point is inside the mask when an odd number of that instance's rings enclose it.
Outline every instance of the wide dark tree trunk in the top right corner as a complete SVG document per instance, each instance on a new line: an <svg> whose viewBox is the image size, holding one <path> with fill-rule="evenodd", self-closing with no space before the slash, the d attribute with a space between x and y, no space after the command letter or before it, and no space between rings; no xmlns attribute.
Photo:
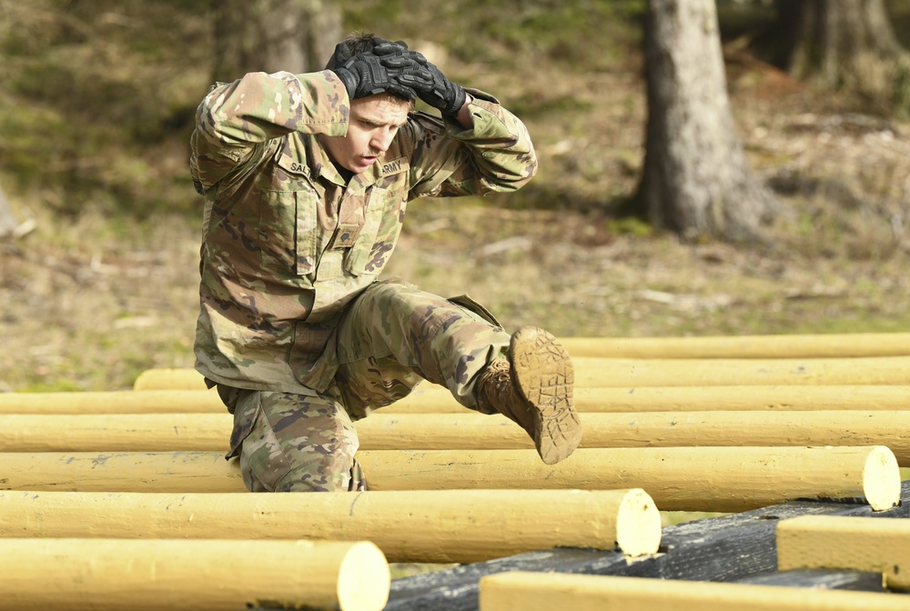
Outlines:
<svg viewBox="0 0 910 611"><path fill-rule="evenodd" d="M777 8L790 74L863 95L884 112L910 112L910 54L883 0L779 0Z"/></svg>

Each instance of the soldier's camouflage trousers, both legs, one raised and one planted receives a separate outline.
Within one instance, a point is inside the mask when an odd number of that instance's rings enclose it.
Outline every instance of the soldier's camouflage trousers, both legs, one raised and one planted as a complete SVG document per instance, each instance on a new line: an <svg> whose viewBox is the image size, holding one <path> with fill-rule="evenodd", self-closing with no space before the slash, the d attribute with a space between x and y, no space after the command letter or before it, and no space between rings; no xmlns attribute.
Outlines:
<svg viewBox="0 0 910 611"><path fill-rule="evenodd" d="M231 446L239 446L244 483L253 492L366 489L352 422L409 395L422 380L476 409L475 382L509 341L467 296L444 299L400 282L371 285L339 322L339 369L325 392L218 386L233 408Z"/></svg>

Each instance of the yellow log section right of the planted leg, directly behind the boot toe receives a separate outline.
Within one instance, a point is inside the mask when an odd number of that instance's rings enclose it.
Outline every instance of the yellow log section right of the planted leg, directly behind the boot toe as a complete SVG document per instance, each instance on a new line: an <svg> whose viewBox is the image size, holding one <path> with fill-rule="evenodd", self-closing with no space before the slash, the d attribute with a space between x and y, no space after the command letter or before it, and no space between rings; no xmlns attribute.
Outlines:
<svg viewBox="0 0 910 611"><path fill-rule="evenodd" d="M589 412L580 417L580 447L888 446L899 466L910 466L910 411ZM377 413L355 426L362 450L533 447L524 430L505 416Z"/></svg>

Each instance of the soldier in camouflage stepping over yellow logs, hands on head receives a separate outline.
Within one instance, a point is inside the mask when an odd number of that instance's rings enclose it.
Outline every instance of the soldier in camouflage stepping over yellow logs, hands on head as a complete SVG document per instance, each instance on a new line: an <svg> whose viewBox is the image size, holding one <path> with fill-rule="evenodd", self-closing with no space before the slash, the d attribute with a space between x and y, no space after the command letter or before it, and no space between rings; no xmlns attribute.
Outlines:
<svg viewBox="0 0 910 611"><path fill-rule="evenodd" d="M414 112L414 100L440 116ZM581 439L571 360L510 336L467 295L379 280L408 202L511 192L535 174L525 126L404 43L351 35L325 71L213 85L190 169L205 195L197 370L234 415L251 491L366 489L352 421L421 380L500 413L544 462Z"/></svg>

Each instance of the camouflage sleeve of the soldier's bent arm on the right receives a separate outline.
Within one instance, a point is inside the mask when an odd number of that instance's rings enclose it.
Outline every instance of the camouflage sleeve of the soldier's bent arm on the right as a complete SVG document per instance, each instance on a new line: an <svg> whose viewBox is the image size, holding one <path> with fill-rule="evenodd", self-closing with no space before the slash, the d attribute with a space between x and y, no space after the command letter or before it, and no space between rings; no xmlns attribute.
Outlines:
<svg viewBox="0 0 910 611"><path fill-rule="evenodd" d="M527 127L496 98L469 92L471 129L422 113L411 122L411 198L511 192L537 173Z"/></svg>

